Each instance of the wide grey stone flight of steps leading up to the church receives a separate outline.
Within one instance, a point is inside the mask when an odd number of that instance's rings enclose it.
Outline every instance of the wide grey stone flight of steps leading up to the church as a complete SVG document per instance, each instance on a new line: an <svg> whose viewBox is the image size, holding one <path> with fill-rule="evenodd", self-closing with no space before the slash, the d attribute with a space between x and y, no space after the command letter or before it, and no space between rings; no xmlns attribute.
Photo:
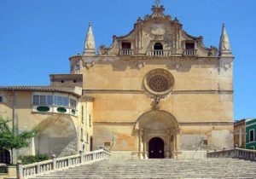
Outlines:
<svg viewBox="0 0 256 179"><path fill-rule="evenodd" d="M104 160L59 170L34 179L53 178L256 178L256 163L242 159Z"/></svg>

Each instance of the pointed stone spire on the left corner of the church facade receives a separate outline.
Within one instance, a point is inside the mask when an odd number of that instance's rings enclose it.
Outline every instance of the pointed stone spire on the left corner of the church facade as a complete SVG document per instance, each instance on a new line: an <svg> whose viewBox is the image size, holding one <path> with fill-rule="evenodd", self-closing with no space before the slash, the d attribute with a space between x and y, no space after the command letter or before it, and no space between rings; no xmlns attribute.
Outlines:
<svg viewBox="0 0 256 179"><path fill-rule="evenodd" d="M95 40L91 28L91 24L89 23L88 32L84 42L84 55L95 55Z"/></svg>

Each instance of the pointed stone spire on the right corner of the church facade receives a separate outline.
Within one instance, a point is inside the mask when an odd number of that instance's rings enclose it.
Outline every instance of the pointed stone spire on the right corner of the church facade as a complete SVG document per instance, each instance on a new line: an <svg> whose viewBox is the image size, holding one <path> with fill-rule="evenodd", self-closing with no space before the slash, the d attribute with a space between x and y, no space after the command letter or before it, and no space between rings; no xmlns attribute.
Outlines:
<svg viewBox="0 0 256 179"><path fill-rule="evenodd" d="M219 40L218 56L233 56L230 49L230 40L224 24L222 25L222 32Z"/></svg>

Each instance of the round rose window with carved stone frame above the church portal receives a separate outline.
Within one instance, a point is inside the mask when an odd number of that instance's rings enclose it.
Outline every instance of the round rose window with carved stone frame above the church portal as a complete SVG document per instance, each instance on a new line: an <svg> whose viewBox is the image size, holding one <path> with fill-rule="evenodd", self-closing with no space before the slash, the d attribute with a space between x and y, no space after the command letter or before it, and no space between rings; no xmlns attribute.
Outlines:
<svg viewBox="0 0 256 179"><path fill-rule="evenodd" d="M164 69L154 69L145 76L144 86L149 93L166 95L171 92L174 78L171 72Z"/></svg>

